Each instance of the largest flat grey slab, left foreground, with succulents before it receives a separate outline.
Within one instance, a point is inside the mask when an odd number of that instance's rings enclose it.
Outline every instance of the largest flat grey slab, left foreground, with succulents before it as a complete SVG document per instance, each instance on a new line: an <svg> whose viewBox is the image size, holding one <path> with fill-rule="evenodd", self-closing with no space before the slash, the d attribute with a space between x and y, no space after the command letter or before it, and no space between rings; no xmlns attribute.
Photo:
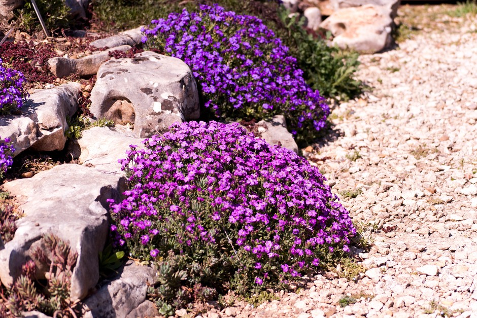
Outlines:
<svg viewBox="0 0 477 318"><path fill-rule="evenodd" d="M71 282L73 300L82 299L99 279L98 253L108 233L107 199L119 200L125 191L123 178L94 169L63 164L42 171L31 179L4 184L17 196L24 217L13 240L0 251L0 280L11 285L21 265L41 244L46 233L70 243L78 253ZM39 277L44 273L37 272Z"/></svg>

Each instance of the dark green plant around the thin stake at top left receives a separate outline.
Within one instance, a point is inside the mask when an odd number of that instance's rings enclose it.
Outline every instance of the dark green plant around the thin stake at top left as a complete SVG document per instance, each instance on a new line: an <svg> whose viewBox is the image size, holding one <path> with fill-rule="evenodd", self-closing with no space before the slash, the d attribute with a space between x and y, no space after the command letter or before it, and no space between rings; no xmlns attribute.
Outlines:
<svg viewBox="0 0 477 318"><path fill-rule="evenodd" d="M64 0L37 0L38 9L51 32L59 31L70 23L70 8ZM41 24L30 1L25 1L21 9L16 12L17 27L26 32L41 30Z"/></svg>

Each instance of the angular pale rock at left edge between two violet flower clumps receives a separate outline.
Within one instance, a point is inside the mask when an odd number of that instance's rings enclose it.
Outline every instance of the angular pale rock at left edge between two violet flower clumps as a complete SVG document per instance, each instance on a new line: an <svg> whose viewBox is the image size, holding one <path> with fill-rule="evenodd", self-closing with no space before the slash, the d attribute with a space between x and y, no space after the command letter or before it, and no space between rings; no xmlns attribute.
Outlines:
<svg viewBox="0 0 477 318"><path fill-rule="evenodd" d="M0 117L0 137L10 138L14 155L32 148L37 151L62 150L66 143L66 117L78 109L81 85L68 83L32 93L20 109L21 115Z"/></svg>

